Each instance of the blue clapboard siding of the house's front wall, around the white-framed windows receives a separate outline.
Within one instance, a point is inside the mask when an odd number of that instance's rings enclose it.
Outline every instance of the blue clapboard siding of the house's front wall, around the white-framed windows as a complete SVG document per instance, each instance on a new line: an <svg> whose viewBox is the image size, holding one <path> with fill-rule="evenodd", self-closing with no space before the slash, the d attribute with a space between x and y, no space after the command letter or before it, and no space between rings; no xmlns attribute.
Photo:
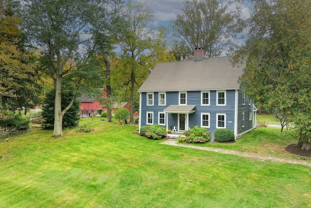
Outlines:
<svg viewBox="0 0 311 208"><path fill-rule="evenodd" d="M159 106L158 105L158 93L154 93L154 105L147 106L147 94L141 93L141 120L140 125L146 125L146 112L154 112L154 124L158 122L158 112L163 112L165 108L170 105L178 105L179 92L166 92L166 105ZM187 105L195 105L195 113L189 114L189 124L188 126L191 128L192 126L201 126L201 113L209 113L209 128L208 131L212 133L212 140L214 138L213 132L216 130L217 123L217 113L224 113L226 115L225 126L226 129L231 129L234 131L234 116L235 116L235 90L227 90L226 91L226 105L225 106L217 106L217 91L209 92L209 106L201 106L201 91L188 91L187 92ZM247 103L248 105L248 103ZM171 125L178 126L178 113L168 113L168 127Z"/></svg>

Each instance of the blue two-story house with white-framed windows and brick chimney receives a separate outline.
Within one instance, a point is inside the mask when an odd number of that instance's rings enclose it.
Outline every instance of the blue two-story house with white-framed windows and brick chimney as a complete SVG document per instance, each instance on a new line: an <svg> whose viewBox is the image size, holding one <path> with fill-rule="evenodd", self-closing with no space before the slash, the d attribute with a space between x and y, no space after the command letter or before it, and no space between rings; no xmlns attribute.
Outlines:
<svg viewBox="0 0 311 208"><path fill-rule="evenodd" d="M138 90L139 129L159 124L177 132L192 126L231 129L235 137L256 127L256 107L243 92L238 79L242 67L229 57L204 58L194 49L194 59L156 64Z"/></svg>

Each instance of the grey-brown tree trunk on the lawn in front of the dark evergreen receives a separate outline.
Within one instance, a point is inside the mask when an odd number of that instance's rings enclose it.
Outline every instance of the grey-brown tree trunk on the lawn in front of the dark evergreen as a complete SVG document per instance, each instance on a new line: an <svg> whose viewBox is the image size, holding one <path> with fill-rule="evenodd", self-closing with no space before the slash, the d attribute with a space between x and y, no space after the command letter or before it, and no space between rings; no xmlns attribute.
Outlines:
<svg viewBox="0 0 311 208"><path fill-rule="evenodd" d="M56 75L55 103L54 103L54 130L52 136L63 136L62 113L62 75Z"/></svg>

